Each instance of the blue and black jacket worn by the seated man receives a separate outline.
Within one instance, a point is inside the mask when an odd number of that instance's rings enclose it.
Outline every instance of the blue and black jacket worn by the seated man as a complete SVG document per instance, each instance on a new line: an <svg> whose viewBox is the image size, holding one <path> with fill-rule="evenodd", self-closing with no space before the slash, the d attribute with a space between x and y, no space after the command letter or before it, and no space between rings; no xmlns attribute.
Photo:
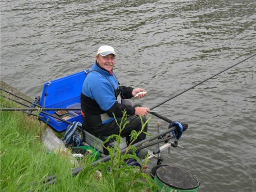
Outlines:
<svg viewBox="0 0 256 192"><path fill-rule="evenodd" d="M116 117L122 117L123 111L127 115L134 115L132 105L122 103L122 99L130 99L133 88L119 86L114 74L101 68L97 61L90 69L83 82L81 94L81 110L84 115L83 123L87 128L99 128Z"/></svg>

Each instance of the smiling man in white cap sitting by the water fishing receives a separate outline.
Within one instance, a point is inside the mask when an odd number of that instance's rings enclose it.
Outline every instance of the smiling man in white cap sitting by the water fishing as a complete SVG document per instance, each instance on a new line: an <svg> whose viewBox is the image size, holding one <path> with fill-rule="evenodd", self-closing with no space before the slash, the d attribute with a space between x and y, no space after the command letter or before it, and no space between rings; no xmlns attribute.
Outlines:
<svg viewBox="0 0 256 192"><path fill-rule="evenodd" d="M130 142L129 135L132 130L137 132L141 130L141 120L146 121L146 114L150 109L143 106L134 107L128 100L136 96L144 89L120 86L113 68L115 66L116 53L111 46L101 46L96 54L96 61L90 69L90 73L84 80L81 94L81 109L83 115L83 129L89 133L100 136L110 136L119 134L119 127L114 119L117 118L118 123L123 116L123 112L129 115L125 129L121 132L121 136L126 137L126 141ZM138 94L138 98L145 97L146 93ZM147 125L144 127L147 131ZM145 139L146 135L142 133L135 141L139 142Z"/></svg>

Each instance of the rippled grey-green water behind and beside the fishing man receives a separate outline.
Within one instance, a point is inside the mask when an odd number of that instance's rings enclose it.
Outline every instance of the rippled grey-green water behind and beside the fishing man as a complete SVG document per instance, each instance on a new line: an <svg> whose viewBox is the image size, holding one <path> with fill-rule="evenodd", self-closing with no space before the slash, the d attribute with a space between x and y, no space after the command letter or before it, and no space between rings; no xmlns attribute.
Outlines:
<svg viewBox="0 0 256 192"><path fill-rule="evenodd" d="M34 97L111 45L119 81L145 88L139 101L152 107L255 54L255 10L252 0L1 1L1 79ZM189 124L185 150L162 157L200 191L256 191L255 66L256 56L157 108ZM151 133L157 121L168 126L152 117Z"/></svg>

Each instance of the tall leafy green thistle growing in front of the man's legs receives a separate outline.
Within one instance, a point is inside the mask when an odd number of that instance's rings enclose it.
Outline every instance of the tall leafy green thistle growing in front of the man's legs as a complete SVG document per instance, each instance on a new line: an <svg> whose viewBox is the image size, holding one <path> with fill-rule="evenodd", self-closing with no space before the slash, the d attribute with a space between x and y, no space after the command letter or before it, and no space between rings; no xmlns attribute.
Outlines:
<svg viewBox="0 0 256 192"><path fill-rule="evenodd" d="M120 144L122 142L121 132L126 124L129 123L126 112L123 113L120 123L118 123L115 118L119 126L119 135L111 135L104 142L107 143L111 139L115 139L117 143L117 145L113 147L106 146L106 149L111 156L111 160L97 165L97 168L101 170L103 182L107 183L112 191L146 191L148 188L154 190L157 189L157 185L153 182L152 178L143 173L143 168L148 162L148 156L142 163L141 159L136 155L137 148L132 146L141 133L147 134L143 130L150 118L146 120L146 122L143 122L141 117L140 119L142 128L139 132L132 131L130 135L131 141L126 148L125 153L121 154ZM136 160L140 166L127 165L126 162L130 159Z"/></svg>

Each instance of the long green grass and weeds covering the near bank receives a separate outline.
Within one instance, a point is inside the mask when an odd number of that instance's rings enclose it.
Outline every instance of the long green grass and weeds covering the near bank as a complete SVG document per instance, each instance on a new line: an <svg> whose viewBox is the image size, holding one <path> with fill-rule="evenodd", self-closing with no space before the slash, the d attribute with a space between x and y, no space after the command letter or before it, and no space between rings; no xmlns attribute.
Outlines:
<svg viewBox="0 0 256 192"><path fill-rule="evenodd" d="M1 107L15 105L1 97L0 101ZM76 160L70 155L49 154L42 143L44 123L22 112L0 113L0 191L146 191L156 188L140 168L117 162L123 159L120 155L91 167L90 157L74 163ZM85 168L72 176L71 169L80 166ZM101 170L100 177L98 170ZM41 184L52 175L56 175L56 184Z"/></svg>

